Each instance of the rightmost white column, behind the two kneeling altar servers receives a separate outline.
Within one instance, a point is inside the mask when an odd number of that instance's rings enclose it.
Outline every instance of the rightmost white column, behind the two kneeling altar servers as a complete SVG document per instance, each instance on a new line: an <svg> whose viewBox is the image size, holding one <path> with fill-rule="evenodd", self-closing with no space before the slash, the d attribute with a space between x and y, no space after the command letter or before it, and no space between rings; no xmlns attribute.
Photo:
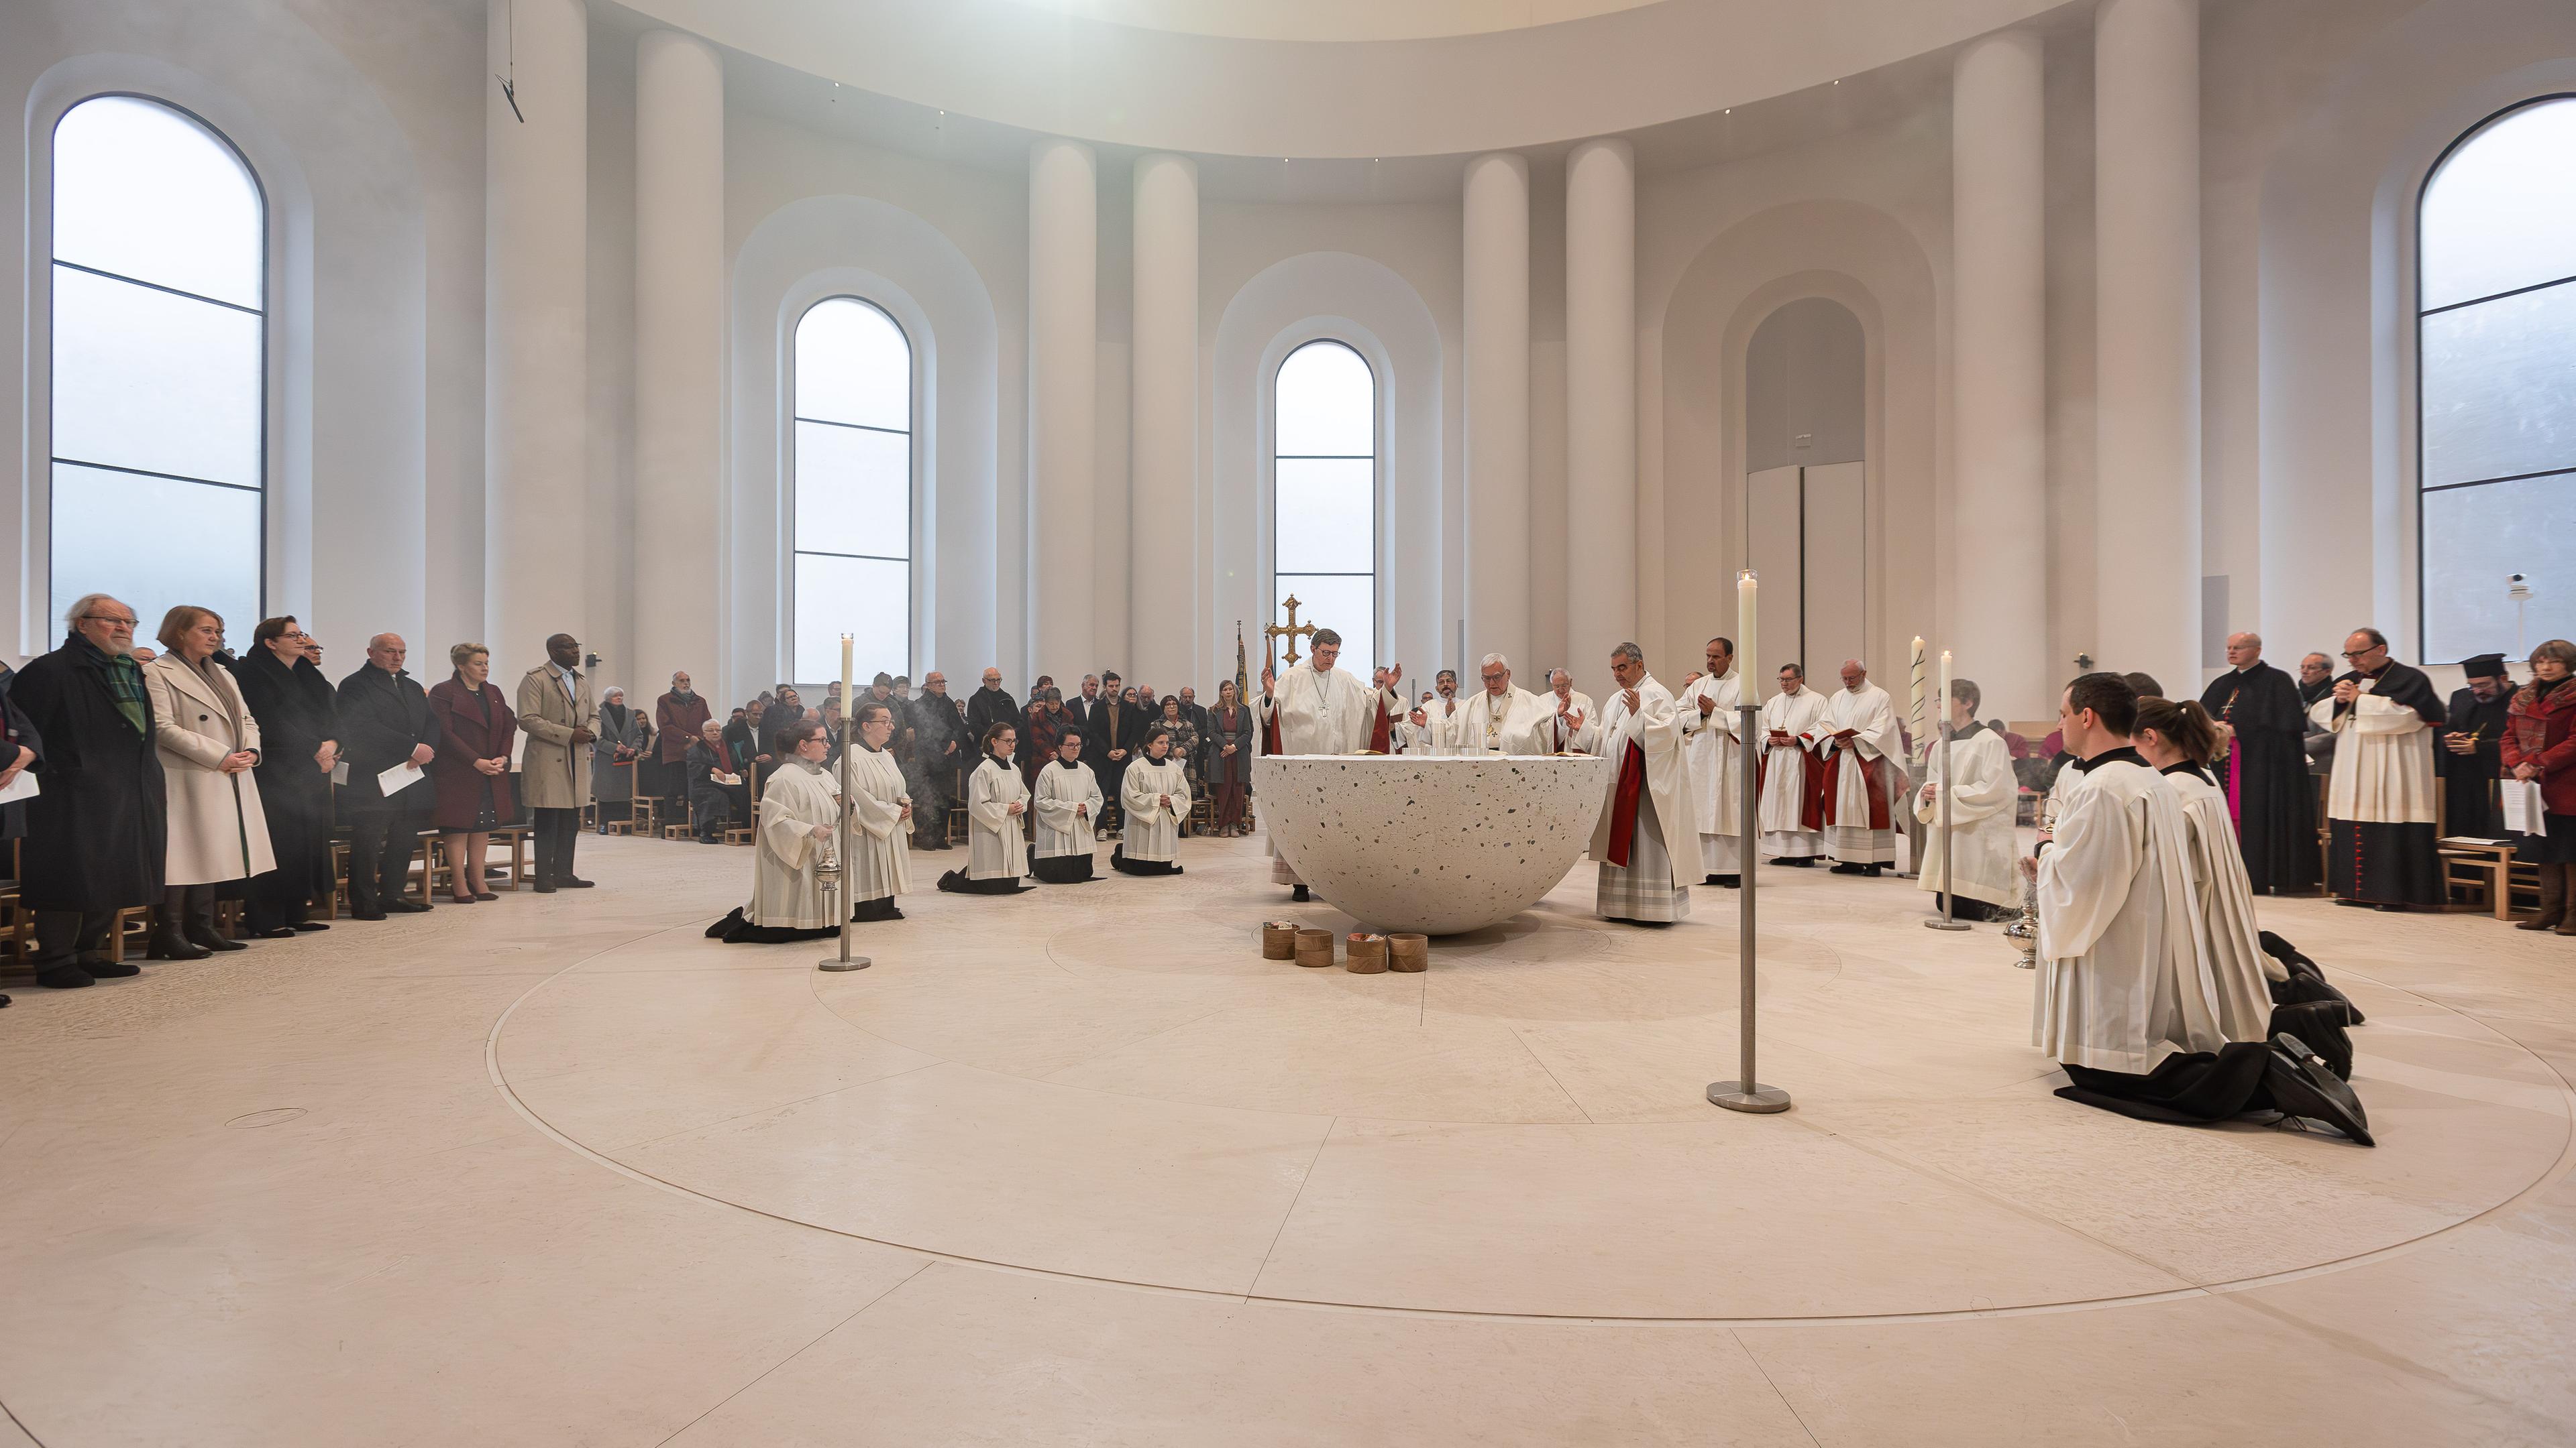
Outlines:
<svg viewBox="0 0 2576 1448"><path fill-rule="evenodd" d="M2094 660L2200 693L2200 0L2094 15Z"/></svg>

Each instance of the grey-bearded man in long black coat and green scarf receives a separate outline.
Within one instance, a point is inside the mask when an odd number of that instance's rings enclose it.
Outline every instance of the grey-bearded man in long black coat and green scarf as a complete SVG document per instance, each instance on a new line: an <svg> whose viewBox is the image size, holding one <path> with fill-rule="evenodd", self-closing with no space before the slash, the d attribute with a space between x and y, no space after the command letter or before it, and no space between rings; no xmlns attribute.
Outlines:
<svg viewBox="0 0 2576 1448"><path fill-rule="evenodd" d="M134 662L134 611L106 593L72 605L70 634L18 672L10 703L44 739L26 809L18 894L36 915L36 984L75 989L137 966L100 956L116 912L162 897L167 794L152 698ZM88 958L88 964L85 964Z"/></svg>

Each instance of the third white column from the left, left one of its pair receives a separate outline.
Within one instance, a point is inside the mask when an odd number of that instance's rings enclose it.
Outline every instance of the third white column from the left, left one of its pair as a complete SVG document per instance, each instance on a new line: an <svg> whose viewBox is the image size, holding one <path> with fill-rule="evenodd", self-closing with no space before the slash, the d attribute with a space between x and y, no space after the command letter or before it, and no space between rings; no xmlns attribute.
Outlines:
<svg viewBox="0 0 2576 1448"><path fill-rule="evenodd" d="M1043 575L1092 564L1100 397L1100 178L1092 147L1028 147L1028 546ZM1082 678L1100 654L1087 587L1030 595L1033 675Z"/></svg>

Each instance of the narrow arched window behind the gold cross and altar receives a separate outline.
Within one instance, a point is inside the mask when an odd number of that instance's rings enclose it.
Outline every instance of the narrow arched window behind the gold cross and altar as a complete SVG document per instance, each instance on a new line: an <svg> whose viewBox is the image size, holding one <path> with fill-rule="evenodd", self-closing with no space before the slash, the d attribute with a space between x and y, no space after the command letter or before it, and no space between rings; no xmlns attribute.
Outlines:
<svg viewBox="0 0 2576 1448"><path fill-rule="evenodd" d="M1306 343L1280 363L1270 538L1273 616L1342 634L1342 662L1378 660L1378 379L1345 343Z"/></svg>

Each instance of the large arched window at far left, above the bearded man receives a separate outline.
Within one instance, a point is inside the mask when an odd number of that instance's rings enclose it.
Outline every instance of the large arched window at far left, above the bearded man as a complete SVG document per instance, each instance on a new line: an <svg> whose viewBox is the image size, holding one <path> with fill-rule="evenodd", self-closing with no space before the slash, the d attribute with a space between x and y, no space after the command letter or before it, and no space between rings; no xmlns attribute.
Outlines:
<svg viewBox="0 0 2576 1448"><path fill-rule="evenodd" d="M232 142L142 95L54 124L54 618L113 593L237 644L263 611L268 204Z"/></svg>

